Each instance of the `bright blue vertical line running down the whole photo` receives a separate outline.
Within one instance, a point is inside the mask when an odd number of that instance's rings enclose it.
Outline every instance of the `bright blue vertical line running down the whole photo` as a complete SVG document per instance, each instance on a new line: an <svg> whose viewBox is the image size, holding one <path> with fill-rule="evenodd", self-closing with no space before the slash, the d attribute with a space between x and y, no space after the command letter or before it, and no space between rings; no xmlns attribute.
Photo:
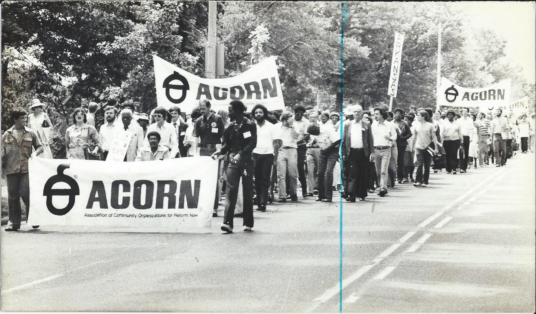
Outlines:
<svg viewBox="0 0 536 314"><path fill-rule="evenodd" d="M341 23L340 23L340 119L339 119L339 132L340 132L340 144L339 144L339 156L343 152L343 117L344 117L344 108L343 108L343 72L344 72L344 27L346 25L346 20L348 19L348 4L346 2L341 2ZM341 157L340 163L340 186L343 187L343 158ZM341 190L343 190L341 188ZM343 312L343 200L342 194L339 194L339 312Z"/></svg>

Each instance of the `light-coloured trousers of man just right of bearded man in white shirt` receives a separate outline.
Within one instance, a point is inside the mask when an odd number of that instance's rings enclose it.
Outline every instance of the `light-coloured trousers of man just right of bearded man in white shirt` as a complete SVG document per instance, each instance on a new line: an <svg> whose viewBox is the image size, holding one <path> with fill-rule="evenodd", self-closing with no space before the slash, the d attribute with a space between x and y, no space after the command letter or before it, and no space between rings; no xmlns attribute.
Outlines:
<svg viewBox="0 0 536 314"><path fill-rule="evenodd" d="M298 177L297 150L295 148L282 148L277 154L277 186L279 198L287 196L287 178L289 194L296 195L296 179Z"/></svg>

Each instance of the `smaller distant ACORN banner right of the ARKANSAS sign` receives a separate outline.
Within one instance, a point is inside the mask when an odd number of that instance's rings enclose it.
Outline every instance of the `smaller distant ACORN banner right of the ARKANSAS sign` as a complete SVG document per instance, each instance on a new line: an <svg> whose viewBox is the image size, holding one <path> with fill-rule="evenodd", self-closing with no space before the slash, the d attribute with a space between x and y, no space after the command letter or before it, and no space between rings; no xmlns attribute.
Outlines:
<svg viewBox="0 0 536 314"><path fill-rule="evenodd" d="M480 107L493 110L508 106L511 83L512 79L506 79L488 87L465 88L441 78L437 97L441 106Z"/></svg>

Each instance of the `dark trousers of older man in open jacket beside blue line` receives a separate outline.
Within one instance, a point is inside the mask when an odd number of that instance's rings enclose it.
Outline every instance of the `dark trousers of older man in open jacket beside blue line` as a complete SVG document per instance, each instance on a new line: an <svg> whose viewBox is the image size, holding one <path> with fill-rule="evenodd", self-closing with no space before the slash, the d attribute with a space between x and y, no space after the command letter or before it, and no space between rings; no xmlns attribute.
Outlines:
<svg viewBox="0 0 536 314"><path fill-rule="evenodd" d="M351 148L348 155L348 197L367 197L369 158L362 148Z"/></svg>

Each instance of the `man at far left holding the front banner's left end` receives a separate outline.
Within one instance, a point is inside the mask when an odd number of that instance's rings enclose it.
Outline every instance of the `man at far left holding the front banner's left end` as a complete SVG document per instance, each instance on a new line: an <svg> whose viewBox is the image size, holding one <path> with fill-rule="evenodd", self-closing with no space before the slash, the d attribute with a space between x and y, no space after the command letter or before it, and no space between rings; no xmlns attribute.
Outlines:
<svg viewBox="0 0 536 314"><path fill-rule="evenodd" d="M8 180L9 208L9 223L5 231L18 231L20 228L20 198L26 205L26 217L29 214L28 159L43 152L38 135L25 126L27 118L28 113L23 108L14 109L11 112L14 125L2 135L2 174Z"/></svg>

